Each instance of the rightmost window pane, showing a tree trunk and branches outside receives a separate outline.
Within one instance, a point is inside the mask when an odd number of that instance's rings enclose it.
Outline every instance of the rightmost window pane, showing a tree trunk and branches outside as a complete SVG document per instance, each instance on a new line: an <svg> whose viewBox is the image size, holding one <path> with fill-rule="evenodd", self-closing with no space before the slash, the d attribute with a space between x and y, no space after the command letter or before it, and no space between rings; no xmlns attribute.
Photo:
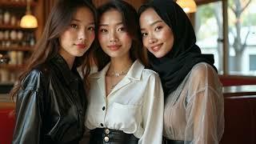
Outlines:
<svg viewBox="0 0 256 144"><path fill-rule="evenodd" d="M228 23L230 74L255 75L256 0L229 0Z"/></svg>

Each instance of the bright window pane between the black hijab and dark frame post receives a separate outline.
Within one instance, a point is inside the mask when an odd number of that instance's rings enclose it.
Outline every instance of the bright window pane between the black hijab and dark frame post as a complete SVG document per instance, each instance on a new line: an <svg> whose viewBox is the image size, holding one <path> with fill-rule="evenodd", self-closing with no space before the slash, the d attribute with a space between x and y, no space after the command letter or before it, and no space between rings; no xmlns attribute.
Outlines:
<svg viewBox="0 0 256 144"><path fill-rule="evenodd" d="M222 2L198 6L194 30L202 54L214 54L214 66L222 73Z"/></svg>

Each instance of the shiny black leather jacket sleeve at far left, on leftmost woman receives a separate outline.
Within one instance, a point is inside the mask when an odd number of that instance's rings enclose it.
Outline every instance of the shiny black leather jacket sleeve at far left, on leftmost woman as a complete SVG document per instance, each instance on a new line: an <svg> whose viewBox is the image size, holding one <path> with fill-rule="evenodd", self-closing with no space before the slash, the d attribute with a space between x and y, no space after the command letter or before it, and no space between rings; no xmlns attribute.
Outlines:
<svg viewBox="0 0 256 144"><path fill-rule="evenodd" d="M32 70L17 94L13 144L38 144L42 133L42 73Z"/></svg>

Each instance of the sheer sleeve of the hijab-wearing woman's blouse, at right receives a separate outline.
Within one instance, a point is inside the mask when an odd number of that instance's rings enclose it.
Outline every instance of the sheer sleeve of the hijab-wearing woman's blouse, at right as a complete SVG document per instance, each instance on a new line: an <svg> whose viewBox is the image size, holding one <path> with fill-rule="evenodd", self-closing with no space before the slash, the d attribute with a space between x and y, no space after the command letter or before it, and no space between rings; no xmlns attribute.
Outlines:
<svg viewBox="0 0 256 144"><path fill-rule="evenodd" d="M186 98L186 144L218 144L224 132L224 100L218 74L207 64L191 73Z"/></svg>

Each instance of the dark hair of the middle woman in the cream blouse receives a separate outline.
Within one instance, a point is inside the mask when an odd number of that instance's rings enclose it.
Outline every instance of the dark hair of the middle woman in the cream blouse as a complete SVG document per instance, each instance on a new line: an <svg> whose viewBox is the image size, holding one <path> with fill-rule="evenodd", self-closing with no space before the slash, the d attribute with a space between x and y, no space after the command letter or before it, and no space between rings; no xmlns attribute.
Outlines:
<svg viewBox="0 0 256 144"><path fill-rule="evenodd" d="M135 61L137 58L147 66L146 49L143 49L142 37L139 28L137 11L129 3L120 0L112 0L98 7L98 18L101 18L102 14L108 10L118 10L122 15L123 25L126 27L127 33L132 38L132 45L130 48L130 58ZM99 46L94 51L94 61L98 66L98 70L102 70L108 62L110 62L110 56L104 53Z"/></svg>

